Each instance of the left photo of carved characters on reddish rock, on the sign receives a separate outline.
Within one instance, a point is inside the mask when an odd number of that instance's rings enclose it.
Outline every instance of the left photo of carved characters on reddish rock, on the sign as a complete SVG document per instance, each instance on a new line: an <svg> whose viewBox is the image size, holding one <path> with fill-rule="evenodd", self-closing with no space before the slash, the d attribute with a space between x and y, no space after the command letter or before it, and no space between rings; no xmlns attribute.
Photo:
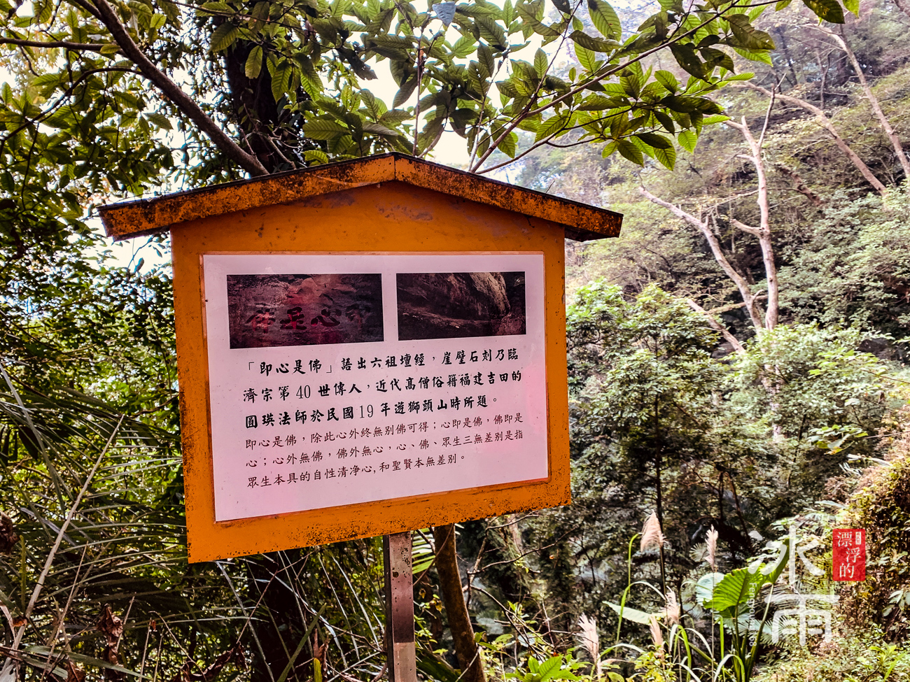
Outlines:
<svg viewBox="0 0 910 682"><path fill-rule="evenodd" d="M231 348L382 341L381 275L228 275Z"/></svg>

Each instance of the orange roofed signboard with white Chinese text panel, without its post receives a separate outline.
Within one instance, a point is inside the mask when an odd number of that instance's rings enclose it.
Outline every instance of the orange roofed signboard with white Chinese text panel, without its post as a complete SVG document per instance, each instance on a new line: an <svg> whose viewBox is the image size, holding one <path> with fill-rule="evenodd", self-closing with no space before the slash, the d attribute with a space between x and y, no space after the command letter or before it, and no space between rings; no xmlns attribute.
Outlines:
<svg viewBox="0 0 910 682"><path fill-rule="evenodd" d="M394 154L101 213L171 231L191 561L570 501L564 237L622 216Z"/></svg>

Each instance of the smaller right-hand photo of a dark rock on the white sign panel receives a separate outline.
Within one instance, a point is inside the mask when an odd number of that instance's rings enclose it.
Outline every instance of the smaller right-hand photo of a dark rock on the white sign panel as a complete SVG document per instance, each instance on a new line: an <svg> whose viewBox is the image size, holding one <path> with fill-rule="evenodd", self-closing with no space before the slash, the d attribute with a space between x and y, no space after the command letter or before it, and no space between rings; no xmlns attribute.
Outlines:
<svg viewBox="0 0 910 682"><path fill-rule="evenodd" d="M399 340L525 334L523 272L399 273Z"/></svg>

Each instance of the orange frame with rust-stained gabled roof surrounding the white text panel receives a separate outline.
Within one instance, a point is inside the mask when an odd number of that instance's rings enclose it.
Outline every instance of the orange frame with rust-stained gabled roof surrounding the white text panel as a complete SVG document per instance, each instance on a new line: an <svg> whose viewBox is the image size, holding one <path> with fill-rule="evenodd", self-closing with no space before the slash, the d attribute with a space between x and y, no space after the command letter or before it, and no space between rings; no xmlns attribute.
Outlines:
<svg viewBox="0 0 910 682"><path fill-rule="evenodd" d="M504 207L495 197L490 199L490 192L500 192L502 183L470 176L470 181L478 184L471 191L463 184L462 176L468 174L400 155L339 166L347 168L345 173L336 173L339 181L334 186L326 182L331 175L326 169L331 166L314 169L321 175L308 170L285 176L297 183L288 189L286 180L287 196L268 196L264 184L280 181L270 178L204 190L208 196L190 193L102 209L108 233L115 236L148 234L162 226L171 230L190 561L376 537L571 502L564 239L567 230L581 238L616 236L622 216L518 187L509 196L514 199L518 194L524 208ZM432 179L415 181L421 173ZM440 191L439 185L429 186L447 173L455 176L460 186L451 182L448 191ZM310 187L315 189L301 191L301 178L308 175ZM220 200L212 196L215 192L221 193ZM478 198L471 200L470 195ZM170 200L171 205L161 206L162 200ZM561 222L566 215L573 218L571 224ZM592 229L597 226L599 230ZM544 256L549 424L546 480L272 517L215 520L201 267L204 254L503 251Z"/></svg>

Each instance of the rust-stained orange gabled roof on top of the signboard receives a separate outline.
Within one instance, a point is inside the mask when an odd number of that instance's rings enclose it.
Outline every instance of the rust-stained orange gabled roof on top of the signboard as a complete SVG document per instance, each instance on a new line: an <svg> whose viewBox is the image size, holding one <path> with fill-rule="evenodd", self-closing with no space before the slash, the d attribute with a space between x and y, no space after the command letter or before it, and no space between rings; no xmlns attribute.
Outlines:
<svg viewBox="0 0 910 682"><path fill-rule="evenodd" d="M578 241L619 236L622 225L622 215L605 208L588 206L397 152L101 206L99 213L107 236L126 239L163 232L170 226L189 220L260 206L289 204L312 196L392 181L543 218L564 226L565 236Z"/></svg>

